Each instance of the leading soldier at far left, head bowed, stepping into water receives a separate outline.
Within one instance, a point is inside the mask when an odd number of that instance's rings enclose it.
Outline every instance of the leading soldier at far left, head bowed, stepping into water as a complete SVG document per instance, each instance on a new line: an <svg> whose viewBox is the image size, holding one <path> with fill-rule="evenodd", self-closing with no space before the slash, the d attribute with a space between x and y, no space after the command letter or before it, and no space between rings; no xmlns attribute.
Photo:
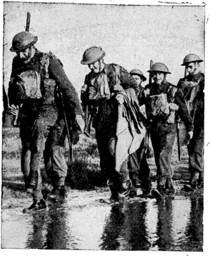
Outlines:
<svg viewBox="0 0 210 256"><path fill-rule="evenodd" d="M38 210L46 207L43 198L41 159L44 151L50 158L53 189L51 197L64 193L67 165L64 158L66 125L60 95L66 105L67 118L73 126L83 131L83 110L78 94L66 76L60 60L52 53L38 51L37 37L30 32L20 32L13 38L10 51L15 52L8 89L10 112L16 115L19 108L20 138L22 141L22 172L27 192L34 198L25 209ZM74 129L74 128L73 128ZM30 153L30 172L27 172ZM49 192L49 191L48 191Z"/></svg>

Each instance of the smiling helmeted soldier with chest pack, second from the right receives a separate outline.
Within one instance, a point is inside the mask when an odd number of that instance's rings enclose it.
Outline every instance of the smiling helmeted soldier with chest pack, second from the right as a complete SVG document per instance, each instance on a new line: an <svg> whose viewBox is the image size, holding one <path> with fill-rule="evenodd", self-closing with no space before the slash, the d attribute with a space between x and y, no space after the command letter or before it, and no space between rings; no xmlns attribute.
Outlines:
<svg viewBox="0 0 210 256"><path fill-rule="evenodd" d="M193 136L193 123L188 113L181 90L167 82L171 74L163 63L154 63L151 67L153 83L144 89L146 113L151 122L150 134L157 166L158 189L152 194L162 198L164 194L173 194L173 170L171 167L172 149L176 136L176 115L186 124L189 139Z"/></svg>

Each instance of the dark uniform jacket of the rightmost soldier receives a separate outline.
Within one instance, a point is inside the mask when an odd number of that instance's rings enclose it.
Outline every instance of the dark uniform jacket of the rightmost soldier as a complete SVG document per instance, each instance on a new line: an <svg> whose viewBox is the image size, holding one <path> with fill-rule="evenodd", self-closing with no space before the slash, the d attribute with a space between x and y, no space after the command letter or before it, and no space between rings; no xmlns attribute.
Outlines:
<svg viewBox="0 0 210 256"><path fill-rule="evenodd" d="M189 84L184 82L189 82ZM195 86L190 87L190 82L195 83ZM197 127L204 127L204 74L199 72L194 76L188 75L179 80L177 87L183 91L183 96L187 103L192 101L190 104L190 115L195 129Z"/></svg>

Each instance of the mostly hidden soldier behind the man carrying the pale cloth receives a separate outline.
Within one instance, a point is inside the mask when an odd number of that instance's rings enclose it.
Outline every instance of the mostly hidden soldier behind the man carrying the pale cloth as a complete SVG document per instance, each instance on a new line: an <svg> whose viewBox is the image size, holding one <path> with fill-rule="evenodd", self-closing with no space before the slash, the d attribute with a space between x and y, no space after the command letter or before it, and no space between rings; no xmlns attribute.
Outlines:
<svg viewBox="0 0 210 256"><path fill-rule="evenodd" d="M130 75L137 82L139 87L139 94L137 96L139 105L141 105L141 98L144 91L144 87L141 85L142 82L146 81L146 77L144 76L141 70L131 70ZM141 181L141 188L143 189L143 194L146 195L151 191L151 181L149 179L150 169L148 167L148 163L146 161L146 145L148 143L147 136L141 141L141 146L129 155L128 159L128 167L130 172L130 179L132 181L132 189L130 192L131 196L137 195L137 187L139 186L139 181Z"/></svg>

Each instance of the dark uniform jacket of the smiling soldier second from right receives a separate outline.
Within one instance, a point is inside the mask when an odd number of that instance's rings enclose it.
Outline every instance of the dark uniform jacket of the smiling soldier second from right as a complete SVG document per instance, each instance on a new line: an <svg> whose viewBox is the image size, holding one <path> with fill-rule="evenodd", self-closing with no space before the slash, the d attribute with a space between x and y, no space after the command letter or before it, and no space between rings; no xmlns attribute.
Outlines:
<svg viewBox="0 0 210 256"><path fill-rule="evenodd" d="M186 101L183 99L183 94L180 89L178 89L173 84L170 84L166 80L162 82L162 84L148 84L144 88L144 91L149 91L148 96L154 96L158 94L167 94L168 103L175 103L179 106L179 110L176 112L176 115L181 117L181 120L186 124L186 128L189 131L193 130L193 123L188 113L188 108L186 105ZM141 104L148 104L148 97L145 97L144 94L141 98ZM153 119L153 123L162 123L166 122L166 118L157 117Z"/></svg>

